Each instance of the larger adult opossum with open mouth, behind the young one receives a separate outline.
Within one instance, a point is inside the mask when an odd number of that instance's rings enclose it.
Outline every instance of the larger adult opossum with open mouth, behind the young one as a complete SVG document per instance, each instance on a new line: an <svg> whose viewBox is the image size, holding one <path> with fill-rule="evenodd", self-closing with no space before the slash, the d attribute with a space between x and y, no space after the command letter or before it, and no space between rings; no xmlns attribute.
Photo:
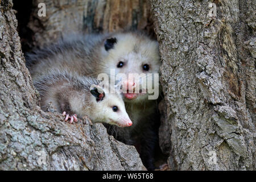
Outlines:
<svg viewBox="0 0 256 182"><path fill-rule="evenodd" d="M148 100L148 93L135 93L140 81L129 78L129 73L158 73L160 57L158 42L138 32L117 32L103 35L67 36L58 43L26 55L27 66L34 80L47 75L52 68L97 76L107 73L118 77L127 86L123 93L126 111L133 126L119 128L108 125L109 134L126 144L137 147L147 169L154 169L154 150L158 145L159 114L156 100ZM115 69L115 73L111 72ZM141 80L140 77L139 80ZM155 90L159 90L155 86Z"/></svg>

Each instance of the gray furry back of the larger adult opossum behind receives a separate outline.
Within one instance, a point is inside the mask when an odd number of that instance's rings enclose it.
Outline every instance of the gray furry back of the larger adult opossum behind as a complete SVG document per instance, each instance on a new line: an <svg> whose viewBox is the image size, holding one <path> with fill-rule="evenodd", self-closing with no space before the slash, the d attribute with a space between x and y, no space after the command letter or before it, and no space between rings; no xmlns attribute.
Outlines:
<svg viewBox="0 0 256 182"><path fill-rule="evenodd" d="M91 75L96 67L98 50L106 35L68 35L57 43L27 53L26 65L34 80L48 75L51 68Z"/></svg>

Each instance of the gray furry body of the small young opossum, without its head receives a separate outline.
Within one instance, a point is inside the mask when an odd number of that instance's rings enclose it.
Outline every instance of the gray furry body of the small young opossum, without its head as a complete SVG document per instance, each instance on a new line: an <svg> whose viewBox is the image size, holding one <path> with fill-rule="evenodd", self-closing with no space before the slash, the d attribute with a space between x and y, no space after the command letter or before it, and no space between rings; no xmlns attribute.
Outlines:
<svg viewBox="0 0 256 182"><path fill-rule="evenodd" d="M46 110L48 101L50 100L53 106L56 107L59 113L62 113L61 104L59 102L69 102L69 97L80 97L81 100L78 105L82 107L89 107L92 105L92 98L90 94L90 86L98 85L99 81L92 77L79 76L76 73L69 73L68 71L59 71L52 69L47 76L40 76L37 80L33 81L34 86L40 93L40 104L43 110ZM85 113L79 113L75 109L70 108L72 113L84 116Z"/></svg>

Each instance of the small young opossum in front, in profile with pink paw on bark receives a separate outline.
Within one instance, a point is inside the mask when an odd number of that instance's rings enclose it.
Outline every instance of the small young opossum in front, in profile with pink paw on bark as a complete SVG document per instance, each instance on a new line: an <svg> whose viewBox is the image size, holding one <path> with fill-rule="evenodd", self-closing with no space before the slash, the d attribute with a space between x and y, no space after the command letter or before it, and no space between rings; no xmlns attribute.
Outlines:
<svg viewBox="0 0 256 182"><path fill-rule="evenodd" d="M98 86L99 81L76 73L52 71L34 81L40 93L43 110L49 102L66 115L65 121L77 122L77 117L89 117L93 122L104 122L118 127L131 126L125 104L119 93ZM107 91L107 92L106 92Z"/></svg>

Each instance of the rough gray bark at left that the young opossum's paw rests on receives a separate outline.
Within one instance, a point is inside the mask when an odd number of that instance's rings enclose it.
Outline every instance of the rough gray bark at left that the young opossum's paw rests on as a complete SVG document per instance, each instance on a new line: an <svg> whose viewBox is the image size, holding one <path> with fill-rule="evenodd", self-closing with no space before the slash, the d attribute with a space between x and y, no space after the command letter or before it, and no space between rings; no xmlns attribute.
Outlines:
<svg viewBox="0 0 256 182"><path fill-rule="evenodd" d="M71 125L40 110L13 3L0 3L0 170L145 169L135 147L110 137L101 123Z"/></svg>

